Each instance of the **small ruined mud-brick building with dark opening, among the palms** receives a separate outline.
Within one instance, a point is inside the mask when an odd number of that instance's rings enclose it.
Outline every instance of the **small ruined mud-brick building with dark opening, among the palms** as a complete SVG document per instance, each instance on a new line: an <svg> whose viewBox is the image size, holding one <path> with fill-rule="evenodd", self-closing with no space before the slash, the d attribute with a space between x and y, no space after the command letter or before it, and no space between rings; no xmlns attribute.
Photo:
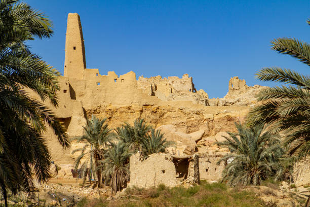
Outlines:
<svg viewBox="0 0 310 207"><path fill-rule="evenodd" d="M160 184L174 187L199 181L198 155L176 157L161 153L142 160L137 153L130 158L129 187L150 188Z"/></svg>

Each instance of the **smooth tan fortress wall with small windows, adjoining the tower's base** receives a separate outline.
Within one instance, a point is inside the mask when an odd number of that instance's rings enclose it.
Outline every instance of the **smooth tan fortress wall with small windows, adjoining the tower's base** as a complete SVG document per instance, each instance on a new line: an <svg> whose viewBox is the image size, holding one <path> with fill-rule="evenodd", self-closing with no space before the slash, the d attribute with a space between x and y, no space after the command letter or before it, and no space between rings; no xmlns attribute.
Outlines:
<svg viewBox="0 0 310 207"><path fill-rule="evenodd" d="M69 78L76 99L82 101L85 110L108 105L154 105L160 101L157 97L148 96L137 88L136 74L133 72L121 76L114 72L100 75L98 69L86 69L85 78L85 80Z"/></svg>

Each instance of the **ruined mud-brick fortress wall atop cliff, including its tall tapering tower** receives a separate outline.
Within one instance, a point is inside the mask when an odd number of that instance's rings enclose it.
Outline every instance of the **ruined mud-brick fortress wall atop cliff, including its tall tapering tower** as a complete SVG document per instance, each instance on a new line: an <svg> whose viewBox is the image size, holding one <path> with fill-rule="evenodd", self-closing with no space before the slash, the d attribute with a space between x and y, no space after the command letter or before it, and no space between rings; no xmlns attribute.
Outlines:
<svg viewBox="0 0 310 207"><path fill-rule="evenodd" d="M76 13L68 14L64 77L68 78L70 97L82 101L85 110L94 106L155 105L171 100L206 105L208 98L204 91L196 93L192 78L187 74L181 79L158 76L140 77L137 81L133 72L121 76L114 72L100 75L98 69L86 68L82 26Z"/></svg>

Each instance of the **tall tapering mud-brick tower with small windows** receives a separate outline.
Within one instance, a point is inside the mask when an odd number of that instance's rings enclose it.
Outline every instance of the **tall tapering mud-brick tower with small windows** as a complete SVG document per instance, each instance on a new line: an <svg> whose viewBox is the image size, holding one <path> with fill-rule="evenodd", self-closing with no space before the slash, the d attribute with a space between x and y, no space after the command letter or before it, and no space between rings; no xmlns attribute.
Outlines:
<svg viewBox="0 0 310 207"><path fill-rule="evenodd" d="M84 38L80 16L68 14L64 76L84 79L86 68Z"/></svg>

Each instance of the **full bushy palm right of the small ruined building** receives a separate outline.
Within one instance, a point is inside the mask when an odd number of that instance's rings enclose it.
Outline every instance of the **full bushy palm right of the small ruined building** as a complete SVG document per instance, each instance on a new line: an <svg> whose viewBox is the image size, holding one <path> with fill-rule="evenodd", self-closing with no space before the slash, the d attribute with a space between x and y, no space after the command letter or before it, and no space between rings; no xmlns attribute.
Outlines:
<svg viewBox="0 0 310 207"><path fill-rule="evenodd" d="M237 183L258 185L262 180L278 175L281 170L279 159L284 154L279 135L271 134L263 124L245 128L236 123L236 128L237 133L228 132L230 137L223 136L226 141L217 143L233 152L217 164L234 158L222 172L223 181L233 186Z"/></svg>

